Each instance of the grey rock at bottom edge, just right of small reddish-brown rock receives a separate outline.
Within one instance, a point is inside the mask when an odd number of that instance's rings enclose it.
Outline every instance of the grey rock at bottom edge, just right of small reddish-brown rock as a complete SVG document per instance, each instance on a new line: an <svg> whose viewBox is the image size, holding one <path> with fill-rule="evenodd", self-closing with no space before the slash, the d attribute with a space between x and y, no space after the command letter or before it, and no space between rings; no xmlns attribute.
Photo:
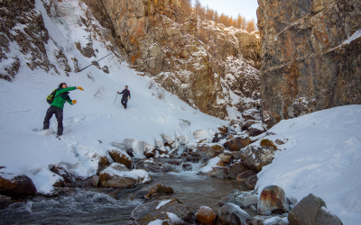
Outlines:
<svg viewBox="0 0 361 225"><path fill-rule="evenodd" d="M226 203L218 211L219 223L221 225L250 225L252 218L238 205Z"/></svg>

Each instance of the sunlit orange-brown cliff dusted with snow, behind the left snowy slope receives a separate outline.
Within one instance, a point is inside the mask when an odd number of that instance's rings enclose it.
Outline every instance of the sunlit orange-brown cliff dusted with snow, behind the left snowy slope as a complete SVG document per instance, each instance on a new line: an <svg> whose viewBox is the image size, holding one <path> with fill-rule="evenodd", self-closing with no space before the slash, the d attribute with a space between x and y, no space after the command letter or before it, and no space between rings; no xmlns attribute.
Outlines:
<svg viewBox="0 0 361 225"><path fill-rule="evenodd" d="M202 112L227 117L237 97L257 99L260 42L254 34L184 17L176 0L86 1L137 71Z"/></svg>

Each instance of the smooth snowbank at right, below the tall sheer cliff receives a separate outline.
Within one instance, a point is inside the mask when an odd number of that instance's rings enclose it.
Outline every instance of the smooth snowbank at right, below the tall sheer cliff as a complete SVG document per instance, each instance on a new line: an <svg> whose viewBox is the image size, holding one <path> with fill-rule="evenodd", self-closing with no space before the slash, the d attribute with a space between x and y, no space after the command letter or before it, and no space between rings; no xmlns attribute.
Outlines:
<svg viewBox="0 0 361 225"><path fill-rule="evenodd" d="M361 105L281 121L268 132L273 141L288 141L258 174L259 193L271 184L297 201L314 193L344 224L360 224Z"/></svg>

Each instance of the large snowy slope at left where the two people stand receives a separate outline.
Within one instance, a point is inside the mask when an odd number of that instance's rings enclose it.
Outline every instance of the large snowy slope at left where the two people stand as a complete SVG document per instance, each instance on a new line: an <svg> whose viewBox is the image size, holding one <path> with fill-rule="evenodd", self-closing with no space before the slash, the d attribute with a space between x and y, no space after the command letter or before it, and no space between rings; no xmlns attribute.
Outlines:
<svg viewBox="0 0 361 225"><path fill-rule="evenodd" d="M53 49L64 49L68 59L78 58L79 67L88 66L91 61L112 53L106 49L105 43L95 38L92 43L94 49L98 50L97 58L85 58L74 46L69 47L75 41L81 44L88 41L86 27L79 27L74 22L79 19L79 14L84 14L77 3L69 2L68 10L74 14L64 16L62 23L56 23L46 14L41 1L36 1L36 5L51 36L46 45L48 58L57 67L59 63L51 54ZM16 48L16 45L13 47ZM194 139L192 134L195 130L216 131L217 127L227 124L227 121L191 108L167 92L163 100L158 99L153 95L155 87L148 88L150 78L136 75L114 54L99 61L100 67L109 67L109 74L92 66L80 73L70 72L69 76L65 76L61 69L58 69L60 75L54 70L49 73L42 69L31 70L25 65L25 59L21 58L20 61L20 71L13 83L0 80L0 166L5 166L2 172L28 175L41 193L51 192L49 165L63 163L75 175L94 175L98 156L114 148L112 141L137 139L154 145L155 139L162 140L161 134L172 139L178 136ZM69 65L74 71L74 66ZM49 107L45 98L61 82L69 86L82 86L85 91L70 92L70 98L78 103L65 105L64 135L59 140L55 138L55 118L51 119L51 129L48 131L42 131L42 121ZM132 94L127 110L120 103L121 96L114 104L116 92L122 91L125 85L129 85ZM99 86L105 87L101 99L94 97ZM189 121L190 125L182 120Z"/></svg>

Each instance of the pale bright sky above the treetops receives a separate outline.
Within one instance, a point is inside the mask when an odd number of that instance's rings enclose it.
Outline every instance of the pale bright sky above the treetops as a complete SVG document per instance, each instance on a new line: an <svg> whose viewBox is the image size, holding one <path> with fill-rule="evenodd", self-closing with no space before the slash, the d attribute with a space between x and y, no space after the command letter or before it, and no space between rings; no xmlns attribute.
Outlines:
<svg viewBox="0 0 361 225"><path fill-rule="evenodd" d="M251 20L252 18L257 21L256 10L258 7L257 0L199 0L204 6L208 4L209 8L218 11L218 14L227 14L234 18L241 14L245 19ZM193 4L194 4L193 0Z"/></svg>

